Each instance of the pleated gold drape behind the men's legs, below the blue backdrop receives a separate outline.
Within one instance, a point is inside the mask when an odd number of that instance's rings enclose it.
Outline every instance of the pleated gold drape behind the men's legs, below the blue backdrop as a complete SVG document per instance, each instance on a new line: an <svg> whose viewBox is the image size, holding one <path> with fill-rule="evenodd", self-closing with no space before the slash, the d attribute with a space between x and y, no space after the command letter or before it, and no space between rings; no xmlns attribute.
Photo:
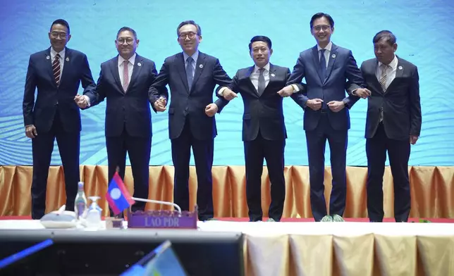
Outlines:
<svg viewBox="0 0 454 276"><path fill-rule="evenodd" d="M412 218L454 218L454 167L409 167L412 194ZM244 166L215 166L213 173L214 216L216 218L245 218L247 203L245 196ZM312 217L309 201L309 169L305 166L286 166L286 202L283 218ZM347 206L345 218L367 218L366 199L367 168L347 168ZM85 182L87 196L101 196L99 206L103 215L108 214L105 201L107 182L106 165L81 165L80 180ZM133 194L133 176L126 168L125 184ZM65 199L63 168L49 169L47 181L47 212L62 206ZM30 215L31 166L0 166L0 216ZM325 169L325 196L331 192L331 168ZM190 206L195 206L197 177L195 168L190 168ZM173 201L173 167L149 167L149 199ZM391 169L384 175L385 217L393 217L393 179ZM262 208L268 215L271 201L268 170L262 176ZM326 201L329 202L328 200ZM149 209L168 209L169 206L147 203Z"/></svg>

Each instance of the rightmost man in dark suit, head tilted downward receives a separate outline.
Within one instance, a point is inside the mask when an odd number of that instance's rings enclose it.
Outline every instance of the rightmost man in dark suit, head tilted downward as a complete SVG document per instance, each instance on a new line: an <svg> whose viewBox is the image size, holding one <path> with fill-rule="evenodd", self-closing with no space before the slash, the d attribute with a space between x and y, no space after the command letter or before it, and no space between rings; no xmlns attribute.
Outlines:
<svg viewBox="0 0 454 276"><path fill-rule="evenodd" d="M383 175L388 151L395 221L406 222L410 215L410 144L416 144L422 124L418 69L394 54L397 44L392 32L378 32L373 42L376 58L361 65L369 91L353 92L362 98L369 96L365 134L367 212L372 222L383 220Z"/></svg>

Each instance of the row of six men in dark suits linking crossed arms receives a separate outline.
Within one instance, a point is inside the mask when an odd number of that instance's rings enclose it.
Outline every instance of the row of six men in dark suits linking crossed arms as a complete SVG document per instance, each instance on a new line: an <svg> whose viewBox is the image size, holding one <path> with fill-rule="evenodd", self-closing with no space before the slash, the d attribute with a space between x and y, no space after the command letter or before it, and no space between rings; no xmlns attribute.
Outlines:
<svg viewBox="0 0 454 276"><path fill-rule="evenodd" d="M391 163L395 192L395 220L410 214L408 159L410 144L421 130L417 67L395 56L392 32L373 39L372 58L357 67L352 52L331 42L334 21L326 13L310 20L317 45L300 53L293 72L271 64L271 39L253 37L249 44L254 65L228 77L219 60L198 50L202 31L192 20L177 27L183 52L166 58L159 74L153 61L136 54L139 39L130 27L116 37L118 56L102 63L94 84L87 57L66 48L69 25L51 25L51 47L30 57L24 94L24 120L33 146L32 218L45 211L47 172L54 139L59 144L66 182L66 206L73 206L79 179L80 111L106 99L106 149L109 180L117 167L124 177L128 152L134 178L134 196L148 198L149 158L154 111L167 108L172 161L175 168L173 199L189 210L190 149L197 172L197 206L200 220L214 216L211 167L216 121L238 93L244 101L243 142L246 194L250 221L262 220L261 177L263 161L269 170L271 204L269 220L279 221L286 196L284 148L286 126L283 97L290 96L302 109L309 160L312 214L316 221L343 221L346 197L346 150L350 118L348 109L359 99L369 101L366 123L368 160L367 209L371 221L383 220L382 182L386 151ZM50 61L49 61L50 60ZM48 70L49 66L52 70ZM66 70L63 70L63 65ZM43 69L43 70L39 70ZM46 70L44 70L46 69ZM305 78L306 84L302 83ZM83 95L78 95L82 82ZM218 99L212 103L216 84ZM33 106L35 88L37 101ZM345 90L348 92L345 95ZM329 210L324 198L324 150L331 150L332 190ZM78 146L74 146L77 144ZM137 202L133 211L143 210Z"/></svg>

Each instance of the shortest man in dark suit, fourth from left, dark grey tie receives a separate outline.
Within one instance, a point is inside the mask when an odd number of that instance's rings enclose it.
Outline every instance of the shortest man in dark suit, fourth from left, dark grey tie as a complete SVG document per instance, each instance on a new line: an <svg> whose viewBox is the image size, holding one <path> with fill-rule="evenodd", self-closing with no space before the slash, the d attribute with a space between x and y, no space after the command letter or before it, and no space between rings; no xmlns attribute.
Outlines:
<svg viewBox="0 0 454 276"><path fill-rule="evenodd" d="M238 70L232 83L219 89L219 95L227 101L231 101L240 93L245 106L243 142L250 221L262 220L261 187L264 158L271 182L268 221L281 220L286 198L283 171L287 132L283 116L283 99L278 91L286 86L290 70L269 63L269 58L273 54L271 46L269 37L252 37L249 51L255 65ZM302 91L303 87L300 89Z"/></svg>

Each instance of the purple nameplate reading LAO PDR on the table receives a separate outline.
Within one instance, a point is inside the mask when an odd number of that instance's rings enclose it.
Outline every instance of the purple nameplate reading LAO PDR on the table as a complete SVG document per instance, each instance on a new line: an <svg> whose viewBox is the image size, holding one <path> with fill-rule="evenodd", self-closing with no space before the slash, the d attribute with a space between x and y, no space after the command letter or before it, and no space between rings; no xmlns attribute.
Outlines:
<svg viewBox="0 0 454 276"><path fill-rule="evenodd" d="M197 212L128 210L128 228L197 229Z"/></svg>

